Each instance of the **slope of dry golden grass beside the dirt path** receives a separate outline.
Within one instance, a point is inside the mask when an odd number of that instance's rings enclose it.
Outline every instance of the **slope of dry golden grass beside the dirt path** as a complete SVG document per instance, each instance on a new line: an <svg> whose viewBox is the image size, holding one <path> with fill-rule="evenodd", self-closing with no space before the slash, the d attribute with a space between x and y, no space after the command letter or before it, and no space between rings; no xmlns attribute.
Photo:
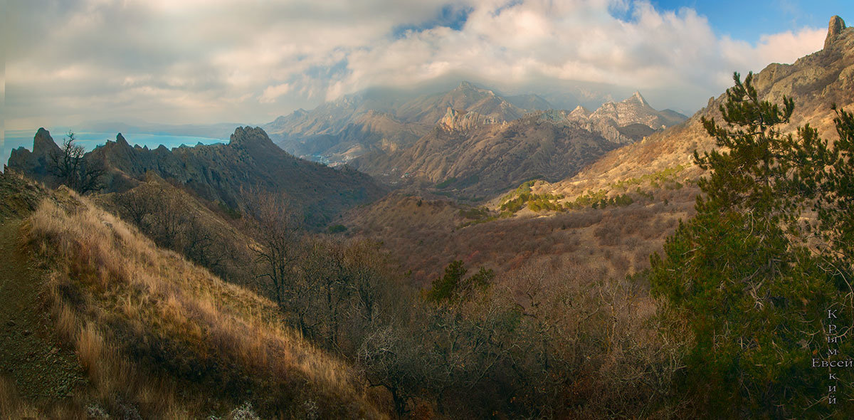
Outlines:
<svg viewBox="0 0 854 420"><path fill-rule="evenodd" d="M271 301L156 248L71 191L56 195L32 214L27 242L52 271L57 330L103 405L185 417L252 400L268 415L299 416L310 398L324 417L384 417L350 366L285 326Z"/></svg>

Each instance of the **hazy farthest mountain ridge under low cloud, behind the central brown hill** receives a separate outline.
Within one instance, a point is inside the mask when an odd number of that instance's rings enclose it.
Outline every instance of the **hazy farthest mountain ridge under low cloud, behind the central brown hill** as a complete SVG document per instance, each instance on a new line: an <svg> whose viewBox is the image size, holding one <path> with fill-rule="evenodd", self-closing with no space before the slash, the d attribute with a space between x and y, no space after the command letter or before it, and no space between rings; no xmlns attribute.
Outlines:
<svg viewBox="0 0 854 420"><path fill-rule="evenodd" d="M464 81L453 90L425 96L343 96L311 111L278 117L264 128L290 153L335 164L371 152L406 149L440 124L447 108L502 121L552 106L540 96L504 97Z"/></svg>

